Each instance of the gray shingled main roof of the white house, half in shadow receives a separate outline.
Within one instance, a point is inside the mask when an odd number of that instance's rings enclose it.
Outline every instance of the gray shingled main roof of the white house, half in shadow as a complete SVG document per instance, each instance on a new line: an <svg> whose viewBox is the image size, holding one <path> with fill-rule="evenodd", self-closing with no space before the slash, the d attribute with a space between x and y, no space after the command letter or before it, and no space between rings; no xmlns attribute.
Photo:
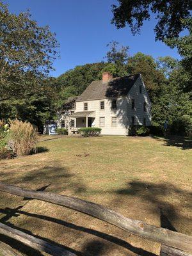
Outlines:
<svg viewBox="0 0 192 256"><path fill-rule="evenodd" d="M108 83L93 81L76 101L124 97L129 93L140 74L113 78Z"/></svg>

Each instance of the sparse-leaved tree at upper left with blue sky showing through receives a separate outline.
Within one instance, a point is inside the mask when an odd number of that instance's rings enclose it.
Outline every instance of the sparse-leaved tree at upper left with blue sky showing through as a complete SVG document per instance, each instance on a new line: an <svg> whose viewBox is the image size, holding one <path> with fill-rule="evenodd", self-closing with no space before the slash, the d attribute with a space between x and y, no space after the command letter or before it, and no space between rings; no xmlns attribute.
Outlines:
<svg viewBox="0 0 192 256"><path fill-rule="evenodd" d="M0 1L0 101L37 93L52 70L58 42L29 12L12 14Z"/></svg>

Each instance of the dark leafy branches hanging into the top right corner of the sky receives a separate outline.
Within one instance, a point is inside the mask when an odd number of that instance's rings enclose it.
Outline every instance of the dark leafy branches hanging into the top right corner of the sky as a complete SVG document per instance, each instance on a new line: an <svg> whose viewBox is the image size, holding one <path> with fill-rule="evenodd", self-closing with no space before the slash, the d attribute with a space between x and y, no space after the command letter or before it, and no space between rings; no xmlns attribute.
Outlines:
<svg viewBox="0 0 192 256"><path fill-rule="evenodd" d="M130 26L133 34L140 32L144 20L150 20L151 13L156 14L157 24L154 29L156 40L179 36L186 28L182 19L190 17L191 0L118 0L119 6L112 5L116 28Z"/></svg>

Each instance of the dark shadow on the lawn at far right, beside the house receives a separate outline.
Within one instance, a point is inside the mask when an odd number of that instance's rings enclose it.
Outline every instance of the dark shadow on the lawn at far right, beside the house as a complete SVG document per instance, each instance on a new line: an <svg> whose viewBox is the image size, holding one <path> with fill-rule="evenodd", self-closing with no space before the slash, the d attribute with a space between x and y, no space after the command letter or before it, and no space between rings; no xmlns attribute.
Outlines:
<svg viewBox="0 0 192 256"><path fill-rule="evenodd" d="M178 147L184 150L192 148L192 140L183 136L168 136L166 138L152 136L152 138L164 141L164 146Z"/></svg>

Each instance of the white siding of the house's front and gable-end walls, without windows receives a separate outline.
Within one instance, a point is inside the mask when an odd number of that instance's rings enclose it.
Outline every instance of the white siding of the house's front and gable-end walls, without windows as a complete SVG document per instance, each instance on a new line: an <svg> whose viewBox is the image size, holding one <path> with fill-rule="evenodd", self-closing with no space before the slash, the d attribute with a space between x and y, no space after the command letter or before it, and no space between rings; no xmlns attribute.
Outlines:
<svg viewBox="0 0 192 256"><path fill-rule="evenodd" d="M140 84L142 92L140 93ZM135 101L135 109L132 109L131 100ZM151 123L151 104L147 90L141 76L138 77L126 97L116 98L116 109L112 109L113 99L84 100L76 102L76 112L84 111L84 102L88 103L88 111L95 111L93 126L100 127L100 117L105 118L105 127L101 127L101 134L104 135L127 135L128 128L134 116L134 125L143 125L143 118L146 125ZM100 101L104 101L104 109L100 109ZM143 103L146 102L146 111L143 110ZM116 117L116 127L112 127L112 117ZM77 121L78 122L78 121ZM80 124L78 124L79 126ZM84 123L82 127L86 124Z"/></svg>

